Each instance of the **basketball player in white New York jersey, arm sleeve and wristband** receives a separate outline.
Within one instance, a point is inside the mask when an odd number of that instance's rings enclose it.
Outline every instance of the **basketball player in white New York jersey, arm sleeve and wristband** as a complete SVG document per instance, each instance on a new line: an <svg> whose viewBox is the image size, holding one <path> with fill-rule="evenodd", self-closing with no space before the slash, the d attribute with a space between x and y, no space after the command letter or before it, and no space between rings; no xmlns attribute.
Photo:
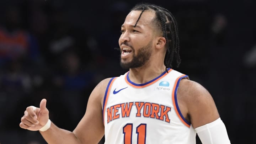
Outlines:
<svg viewBox="0 0 256 144"><path fill-rule="evenodd" d="M49 120L46 99L27 107L20 127L39 130L49 144L230 144L209 92L172 68L180 63L174 16L136 5L121 26L121 66L129 71L102 80L73 132Z"/></svg>

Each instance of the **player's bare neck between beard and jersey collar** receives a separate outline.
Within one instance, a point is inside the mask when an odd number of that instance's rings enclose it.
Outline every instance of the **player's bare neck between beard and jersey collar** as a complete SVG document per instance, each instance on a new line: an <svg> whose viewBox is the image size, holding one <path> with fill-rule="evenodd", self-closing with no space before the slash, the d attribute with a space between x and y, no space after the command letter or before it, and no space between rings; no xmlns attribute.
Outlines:
<svg viewBox="0 0 256 144"><path fill-rule="evenodd" d="M129 79L136 84L144 84L161 75L165 70L164 64L161 66L156 64L147 66L145 64L139 68L131 68L129 71Z"/></svg>

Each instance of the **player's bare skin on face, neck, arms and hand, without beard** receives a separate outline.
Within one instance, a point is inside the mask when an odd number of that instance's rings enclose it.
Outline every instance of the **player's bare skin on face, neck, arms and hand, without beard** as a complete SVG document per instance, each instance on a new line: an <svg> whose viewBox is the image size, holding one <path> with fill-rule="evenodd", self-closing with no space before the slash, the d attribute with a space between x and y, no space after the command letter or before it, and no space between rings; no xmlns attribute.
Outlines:
<svg viewBox="0 0 256 144"><path fill-rule="evenodd" d="M129 78L137 84L148 82L165 71L164 57L166 53L166 40L161 33L155 31L151 21L155 13L144 11L137 27L136 23L141 11L131 11L124 21L119 38L121 48L121 63L132 62L133 55L152 43L151 56L143 66L129 69ZM125 43L125 44L124 44ZM132 48L131 48L132 47ZM128 55L123 55L123 48L131 49ZM84 117L73 132L60 129L52 122L48 130L41 132L44 139L50 144L97 144L104 135L102 122L102 106L105 90L110 78L102 80L91 92ZM212 96L197 82L182 79L177 91L177 100L182 115L191 122L193 128L203 126L219 118L219 114ZM40 107L33 111L32 106L27 107L21 118L20 127L28 130L39 130L48 121L49 111L46 108L46 99Z"/></svg>

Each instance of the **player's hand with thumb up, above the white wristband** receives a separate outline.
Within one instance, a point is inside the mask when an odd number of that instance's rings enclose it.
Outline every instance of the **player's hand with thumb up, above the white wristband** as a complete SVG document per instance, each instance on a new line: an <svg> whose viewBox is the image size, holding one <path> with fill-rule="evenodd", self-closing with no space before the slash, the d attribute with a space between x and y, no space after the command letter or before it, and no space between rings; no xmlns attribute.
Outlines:
<svg viewBox="0 0 256 144"><path fill-rule="evenodd" d="M39 130L46 125L49 119L49 111L46 108L46 99L40 102L40 108L29 106L21 118L20 127L28 130Z"/></svg>

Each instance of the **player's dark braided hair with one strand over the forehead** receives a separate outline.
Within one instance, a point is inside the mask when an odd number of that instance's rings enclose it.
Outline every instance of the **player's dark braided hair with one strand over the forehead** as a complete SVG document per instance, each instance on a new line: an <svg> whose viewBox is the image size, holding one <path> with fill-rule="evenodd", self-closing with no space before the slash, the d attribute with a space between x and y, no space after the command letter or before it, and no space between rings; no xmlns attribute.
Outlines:
<svg viewBox="0 0 256 144"><path fill-rule="evenodd" d="M142 13L145 10L155 11L155 18L153 23L156 28L162 33L162 36L166 39L166 54L164 59L164 64L167 68L172 68L173 63L176 67L180 65L181 59L179 55L179 37L178 37L178 27L177 22L171 12L163 7L153 5L153 4L137 4L131 11L142 11L139 15L137 22L134 27L136 27Z"/></svg>

